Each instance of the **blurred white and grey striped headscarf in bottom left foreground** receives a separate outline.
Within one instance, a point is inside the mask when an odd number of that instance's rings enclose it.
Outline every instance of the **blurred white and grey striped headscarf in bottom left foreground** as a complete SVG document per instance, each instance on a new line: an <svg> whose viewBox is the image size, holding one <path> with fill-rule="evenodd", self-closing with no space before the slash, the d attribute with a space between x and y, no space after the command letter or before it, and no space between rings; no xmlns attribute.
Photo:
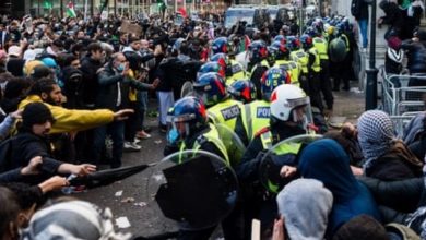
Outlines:
<svg viewBox="0 0 426 240"><path fill-rule="evenodd" d="M23 240L127 240L114 230L109 208L84 201L61 202L37 212L22 235Z"/></svg>

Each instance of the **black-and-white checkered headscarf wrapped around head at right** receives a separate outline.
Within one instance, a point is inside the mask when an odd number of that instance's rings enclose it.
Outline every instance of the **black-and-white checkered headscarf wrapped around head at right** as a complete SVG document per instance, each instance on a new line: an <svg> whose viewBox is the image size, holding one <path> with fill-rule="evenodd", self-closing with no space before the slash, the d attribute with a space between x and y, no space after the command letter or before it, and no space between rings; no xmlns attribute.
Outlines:
<svg viewBox="0 0 426 240"><path fill-rule="evenodd" d="M384 111L369 110L359 117L357 127L358 142L365 158L364 168L368 168L391 147L395 137L393 124Z"/></svg>

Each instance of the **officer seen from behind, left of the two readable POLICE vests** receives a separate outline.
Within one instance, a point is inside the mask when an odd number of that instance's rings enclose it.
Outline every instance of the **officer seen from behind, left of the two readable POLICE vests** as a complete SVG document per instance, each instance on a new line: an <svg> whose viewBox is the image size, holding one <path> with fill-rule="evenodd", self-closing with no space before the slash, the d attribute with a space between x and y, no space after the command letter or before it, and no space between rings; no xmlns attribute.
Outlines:
<svg viewBox="0 0 426 240"><path fill-rule="evenodd" d="M246 118L244 105L229 97L224 79L217 73L205 73L197 79L193 88L208 107L210 121L214 124L225 124L247 144L247 132L242 121Z"/></svg>

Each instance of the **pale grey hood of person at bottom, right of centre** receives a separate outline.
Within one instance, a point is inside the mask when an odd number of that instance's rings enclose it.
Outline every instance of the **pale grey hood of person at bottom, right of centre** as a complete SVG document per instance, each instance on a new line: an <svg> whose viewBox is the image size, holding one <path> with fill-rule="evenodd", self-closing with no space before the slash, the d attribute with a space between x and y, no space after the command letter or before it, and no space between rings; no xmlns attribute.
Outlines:
<svg viewBox="0 0 426 240"><path fill-rule="evenodd" d="M333 195L315 179L297 179L276 196L280 214L285 218L289 239L324 238Z"/></svg>

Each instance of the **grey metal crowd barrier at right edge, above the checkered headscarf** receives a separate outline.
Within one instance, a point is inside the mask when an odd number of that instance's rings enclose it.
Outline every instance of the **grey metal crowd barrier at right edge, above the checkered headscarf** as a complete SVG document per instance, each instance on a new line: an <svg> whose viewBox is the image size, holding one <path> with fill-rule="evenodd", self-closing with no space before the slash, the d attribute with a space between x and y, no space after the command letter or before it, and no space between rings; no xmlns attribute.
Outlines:
<svg viewBox="0 0 426 240"><path fill-rule="evenodd" d="M382 110L389 113L397 134L402 136L404 127L426 109L426 74L387 74L384 69L381 74Z"/></svg>

